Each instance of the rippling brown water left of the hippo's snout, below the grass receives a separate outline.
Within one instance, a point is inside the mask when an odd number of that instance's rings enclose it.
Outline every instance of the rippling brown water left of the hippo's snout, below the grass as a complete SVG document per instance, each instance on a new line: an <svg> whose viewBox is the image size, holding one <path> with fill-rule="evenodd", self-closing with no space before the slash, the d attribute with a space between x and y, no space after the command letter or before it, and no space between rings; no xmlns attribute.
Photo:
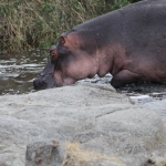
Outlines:
<svg viewBox="0 0 166 166"><path fill-rule="evenodd" d="M48 51L0 54L0 95L29 93L48 61Z"/></svg>

